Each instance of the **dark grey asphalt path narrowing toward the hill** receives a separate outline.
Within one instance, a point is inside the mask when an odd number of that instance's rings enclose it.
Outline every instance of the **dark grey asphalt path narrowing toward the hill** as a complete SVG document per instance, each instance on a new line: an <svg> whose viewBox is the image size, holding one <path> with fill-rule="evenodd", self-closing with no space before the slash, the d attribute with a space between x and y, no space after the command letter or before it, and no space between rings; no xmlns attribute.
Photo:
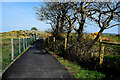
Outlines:
<svg viewBox="0 0 120 80"><path fill-rule="evenodd" d="M73 80L74 77L42 47L41 40L34 42L2 76L2 80L42 79Z"/></svg>

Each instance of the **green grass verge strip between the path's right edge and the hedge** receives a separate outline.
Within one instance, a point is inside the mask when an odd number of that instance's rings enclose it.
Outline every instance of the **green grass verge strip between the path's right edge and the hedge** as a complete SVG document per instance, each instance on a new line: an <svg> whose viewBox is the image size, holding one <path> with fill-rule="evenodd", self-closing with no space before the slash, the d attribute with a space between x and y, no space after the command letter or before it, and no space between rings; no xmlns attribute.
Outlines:
<svg viewBox="0 0 120 80"><path fill-rule="evenodd" d="M53 54L52 51L49 53ZM56 59L71 72L76 79L102 79L105 77L105 74L97 71L86 70L85 68L78 65L76 62L70 62L60 57L56 57Z"/></svg>

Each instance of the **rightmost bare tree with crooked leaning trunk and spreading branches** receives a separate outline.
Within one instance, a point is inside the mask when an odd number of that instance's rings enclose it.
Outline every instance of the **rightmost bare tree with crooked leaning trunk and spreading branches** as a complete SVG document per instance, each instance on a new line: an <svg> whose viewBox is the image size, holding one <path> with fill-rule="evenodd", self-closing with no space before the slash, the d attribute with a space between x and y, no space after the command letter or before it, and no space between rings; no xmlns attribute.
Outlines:
<svg viewBox="0 0 120 80"><path fill-rule="evenodd" d="M88 10L89 13L87 16L95 21L100 28L98 35L93 41L93 43L95 43L105 29L120 25L118 23L118 18L120 17L120 2L93 3L92 5L94 6Z"/></svg>

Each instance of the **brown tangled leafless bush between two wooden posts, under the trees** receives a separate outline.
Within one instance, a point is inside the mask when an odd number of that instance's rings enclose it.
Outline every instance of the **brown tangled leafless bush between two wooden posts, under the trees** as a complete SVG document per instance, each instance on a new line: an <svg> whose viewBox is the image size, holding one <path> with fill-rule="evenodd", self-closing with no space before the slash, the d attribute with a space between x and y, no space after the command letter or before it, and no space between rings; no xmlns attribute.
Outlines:
<svg viewBox="0 0 120 80"><path fill-rule="evenodd" d="M87 51L89 46L93 45L91 44L92 40L90 38L83 38L80 41L76 40L76 38L73 39L72 43L69 43L67 45L67 58L71 61L76 61L78 64L85 68L93 70L94 68L96 68L95 66L98 65L99 59L95 55L91 56L92 53L96 52L95 49Z"/></svg>

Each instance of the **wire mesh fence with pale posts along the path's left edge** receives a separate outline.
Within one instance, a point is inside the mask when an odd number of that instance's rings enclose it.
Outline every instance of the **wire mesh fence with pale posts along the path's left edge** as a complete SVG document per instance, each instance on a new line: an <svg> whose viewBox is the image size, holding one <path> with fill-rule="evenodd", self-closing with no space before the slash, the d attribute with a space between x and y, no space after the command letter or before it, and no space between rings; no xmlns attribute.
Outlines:
<svg viewBox="0 0 120 80"><path fill-rule="evenodd" d="M2 39L2 70L4 70L18 55L23 53L26 48L38 37L29 38L6 38Z"/></svg>

